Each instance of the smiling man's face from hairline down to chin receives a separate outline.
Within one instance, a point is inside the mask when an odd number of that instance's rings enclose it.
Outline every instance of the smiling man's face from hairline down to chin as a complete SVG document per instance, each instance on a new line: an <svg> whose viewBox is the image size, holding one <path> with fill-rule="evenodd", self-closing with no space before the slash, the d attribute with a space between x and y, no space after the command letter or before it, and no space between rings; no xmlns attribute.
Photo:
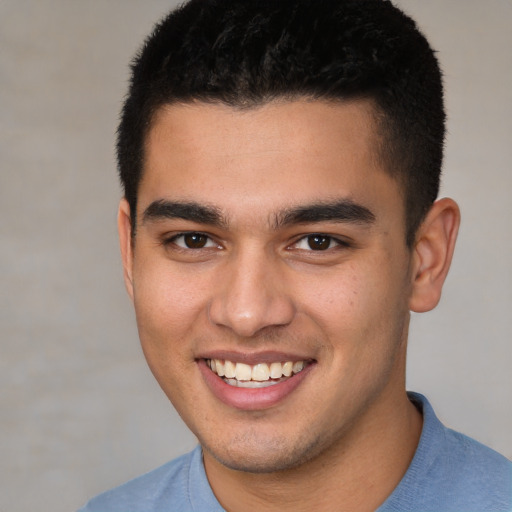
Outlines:
<svg viewBox="0 0 512 512"><path fill-rule="evenodd" d="M404 394L411 255L375 140L361 102L157 115L127 286L149 366L205 457L294 467Z"/></svg>

